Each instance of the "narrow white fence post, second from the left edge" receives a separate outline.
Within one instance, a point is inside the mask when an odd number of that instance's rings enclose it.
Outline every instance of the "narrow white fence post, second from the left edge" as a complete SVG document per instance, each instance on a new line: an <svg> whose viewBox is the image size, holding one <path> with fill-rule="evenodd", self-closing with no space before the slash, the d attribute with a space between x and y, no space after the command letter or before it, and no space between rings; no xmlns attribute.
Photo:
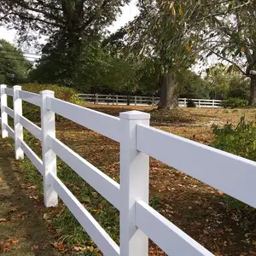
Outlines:
<svg viewBox="0 0 256 256"><path fill-rule="evenodd" d="M20 140L23 140L23 127L20 125L20 116L22 116L22 100L19 97L20 85L15 85L14 89L14 131L15 131L15 159L24 159L24 152L20 148Z"/></svg>

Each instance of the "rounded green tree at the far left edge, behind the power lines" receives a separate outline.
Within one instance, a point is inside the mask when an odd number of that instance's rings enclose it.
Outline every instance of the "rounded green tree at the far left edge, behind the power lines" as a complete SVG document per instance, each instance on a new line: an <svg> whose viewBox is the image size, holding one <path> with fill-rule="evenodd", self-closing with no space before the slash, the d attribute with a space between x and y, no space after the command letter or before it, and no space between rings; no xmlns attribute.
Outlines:
<svg viewBox="0 0 256 256"><path fill-rule="evenodd" d="M0 83L12 84L11 76L15 75L15 84L24 83L28 71L32 67L29 61L26 61L20 49L0 39Z"/></svg>

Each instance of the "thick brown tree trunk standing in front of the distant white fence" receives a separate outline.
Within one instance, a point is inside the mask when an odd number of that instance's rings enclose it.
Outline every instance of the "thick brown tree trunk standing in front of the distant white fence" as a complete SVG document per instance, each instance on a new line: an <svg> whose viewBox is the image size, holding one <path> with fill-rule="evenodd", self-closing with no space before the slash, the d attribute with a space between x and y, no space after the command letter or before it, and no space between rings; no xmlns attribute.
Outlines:
<svg viewBox="0 0 256 256"><path fill-rule="evenodd" d="M158 109L173 109L178 107L177 86L171 74L160 79L160 102Z"/></svg>

